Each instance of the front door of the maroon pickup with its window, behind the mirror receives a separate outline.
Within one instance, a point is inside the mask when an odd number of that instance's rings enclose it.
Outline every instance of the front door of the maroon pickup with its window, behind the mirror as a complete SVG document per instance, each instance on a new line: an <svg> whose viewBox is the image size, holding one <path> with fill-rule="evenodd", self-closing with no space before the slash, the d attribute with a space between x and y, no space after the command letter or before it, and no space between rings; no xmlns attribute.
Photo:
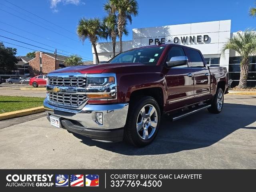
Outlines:
<svg viewBox="0 0 256 192"><path fill-rule="evenodd" d="M166 61L170 61L170 58L175 56L186 56L184 49L178 46L170 48ZM167 109L169 111L174 110L193 102L194 82L191 76L187 76L189 73L188 65L165 68L165 70L168 88Z"/></svg>

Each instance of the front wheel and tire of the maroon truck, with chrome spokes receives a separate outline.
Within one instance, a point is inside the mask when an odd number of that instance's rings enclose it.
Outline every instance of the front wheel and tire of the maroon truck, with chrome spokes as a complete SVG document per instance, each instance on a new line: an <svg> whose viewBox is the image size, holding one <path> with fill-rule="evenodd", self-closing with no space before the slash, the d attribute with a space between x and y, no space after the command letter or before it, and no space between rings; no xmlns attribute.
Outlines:
<svg viewBox="0 0 256 192"><path fill-rule="evenodd" d="M160 107L153 97L134 100L129 106L124 139L136 147L150 144L159 130L160 118Z"/></svg>

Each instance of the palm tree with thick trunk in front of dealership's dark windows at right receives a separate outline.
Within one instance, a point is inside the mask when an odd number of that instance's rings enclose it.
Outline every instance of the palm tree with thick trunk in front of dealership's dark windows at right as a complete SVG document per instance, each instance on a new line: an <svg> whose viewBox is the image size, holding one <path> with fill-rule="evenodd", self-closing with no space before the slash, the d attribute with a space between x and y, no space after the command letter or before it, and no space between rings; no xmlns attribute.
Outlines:
<svg viewBox="0 0 256 192"><path fill-rule="evenodd" d="M250 55L256 53L256 32L252 30L238 32L224 44L222 53L227 49L235 50L240 54L240 81L238 88L246 88Z"/></svg>

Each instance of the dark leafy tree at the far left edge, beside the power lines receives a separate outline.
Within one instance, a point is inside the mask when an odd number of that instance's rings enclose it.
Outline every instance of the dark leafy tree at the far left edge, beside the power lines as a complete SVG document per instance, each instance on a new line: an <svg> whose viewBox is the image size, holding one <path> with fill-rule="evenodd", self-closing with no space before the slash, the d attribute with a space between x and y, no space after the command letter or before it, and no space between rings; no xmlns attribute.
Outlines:
<svg viewBox="0 0 256 192"><path fill-rule="evenodd" d="M0 42L0 70L4 73L15 69L15 64L18 63L18 59L15 57L16 48L5 47L2 42Z"/></svg>

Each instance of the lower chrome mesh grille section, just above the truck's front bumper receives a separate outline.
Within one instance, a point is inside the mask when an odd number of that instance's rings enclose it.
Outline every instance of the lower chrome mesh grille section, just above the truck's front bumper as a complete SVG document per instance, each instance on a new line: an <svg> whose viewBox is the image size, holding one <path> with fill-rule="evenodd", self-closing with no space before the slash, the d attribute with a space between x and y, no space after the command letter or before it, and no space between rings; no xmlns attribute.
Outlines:
<svg viewBox="0 0 256 192"><path fill-rule="evenodd" d="M65 106L79 107L86 100L86 95L83 94L68 94L49 92L49 100L56 104L63 104Z"/></svg>

